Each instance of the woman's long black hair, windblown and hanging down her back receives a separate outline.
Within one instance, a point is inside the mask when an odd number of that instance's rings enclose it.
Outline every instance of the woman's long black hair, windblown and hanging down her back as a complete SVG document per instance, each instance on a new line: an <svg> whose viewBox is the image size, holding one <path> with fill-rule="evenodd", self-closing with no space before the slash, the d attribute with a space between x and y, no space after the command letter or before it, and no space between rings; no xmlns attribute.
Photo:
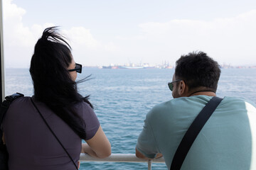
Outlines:
<svg viewBox="0 0 256 170"><path fill-rule="evenodd" d="M29 69L34 96L46 103L75 133L85 139L85 122L73 106L82 101L91 107L92 104L88 101L89 96L78 94L77 83L72 80L67 69L73 60L71 47L57 30L57 27L46 28L36 42Z"/></svg>

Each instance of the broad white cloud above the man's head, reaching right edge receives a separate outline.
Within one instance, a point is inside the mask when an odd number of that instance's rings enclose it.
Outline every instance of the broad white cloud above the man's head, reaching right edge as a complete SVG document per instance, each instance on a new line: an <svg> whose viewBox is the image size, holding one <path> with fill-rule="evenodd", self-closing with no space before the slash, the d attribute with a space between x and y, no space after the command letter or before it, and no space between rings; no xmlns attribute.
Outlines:
<svg viewBox="0 0 256 170"><path fill-rule="evenodd" d="M139 28L149 42L169 47L169 54L205 50L220 63L256 64L256 10L213 21L142 23Z"/></svg>

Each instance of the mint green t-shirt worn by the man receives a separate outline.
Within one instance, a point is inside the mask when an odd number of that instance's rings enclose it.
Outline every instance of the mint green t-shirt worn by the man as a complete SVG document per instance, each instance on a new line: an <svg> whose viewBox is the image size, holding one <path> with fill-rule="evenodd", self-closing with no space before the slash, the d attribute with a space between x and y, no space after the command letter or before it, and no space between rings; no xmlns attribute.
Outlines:
<svg viewBox="0 0 256 170"><path fill-rule="evenodd" d="M186 130L210 96L166 101L149 111L137 141L146 157L164 155L170 169ZM181 169L256 169L255 103L225 97L193 142Z"/></svg>

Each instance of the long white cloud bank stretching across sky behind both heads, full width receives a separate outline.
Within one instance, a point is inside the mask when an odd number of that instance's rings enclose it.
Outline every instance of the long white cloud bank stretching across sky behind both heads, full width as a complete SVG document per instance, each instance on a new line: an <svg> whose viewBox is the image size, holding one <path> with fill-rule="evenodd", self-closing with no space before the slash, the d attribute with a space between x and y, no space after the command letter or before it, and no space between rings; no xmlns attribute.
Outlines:
<svg viewBox="0 0 256 170"><path fill-rule="evenodd" d="M23 24L26 10L11 0L3 0L3 9L6 67L29 67L33 46L43 29L55 24L26 26ZM119 31L120 35L115 35L115 30L107 30L105 35L102 31L97 34L102 35L100 38L93 36L95 32L92 30L79 26L63 29L62 32L70 40L75 59L86 65L124 63L128 60L139 63L142 59L142 62L150 64L164 60L174 64L180 55L193 50L207 52L220 64L256 64L255 30L256 10L252 10L212 21L142 23L135 30L137 32Z"/></svg>

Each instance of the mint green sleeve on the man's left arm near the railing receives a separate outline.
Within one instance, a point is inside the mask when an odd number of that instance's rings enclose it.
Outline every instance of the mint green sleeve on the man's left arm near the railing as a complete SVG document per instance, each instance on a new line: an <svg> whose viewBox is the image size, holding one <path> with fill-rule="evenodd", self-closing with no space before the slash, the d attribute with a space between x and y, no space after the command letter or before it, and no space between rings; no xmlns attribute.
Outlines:
<svg viewBox="0 0 256 170"><path fill-rule="evenodd" d="M137 150L144 154L145 157L154 159L158 153L156 140L148 123L148 117L144 120L144 127L137 140Z"/></svg>

